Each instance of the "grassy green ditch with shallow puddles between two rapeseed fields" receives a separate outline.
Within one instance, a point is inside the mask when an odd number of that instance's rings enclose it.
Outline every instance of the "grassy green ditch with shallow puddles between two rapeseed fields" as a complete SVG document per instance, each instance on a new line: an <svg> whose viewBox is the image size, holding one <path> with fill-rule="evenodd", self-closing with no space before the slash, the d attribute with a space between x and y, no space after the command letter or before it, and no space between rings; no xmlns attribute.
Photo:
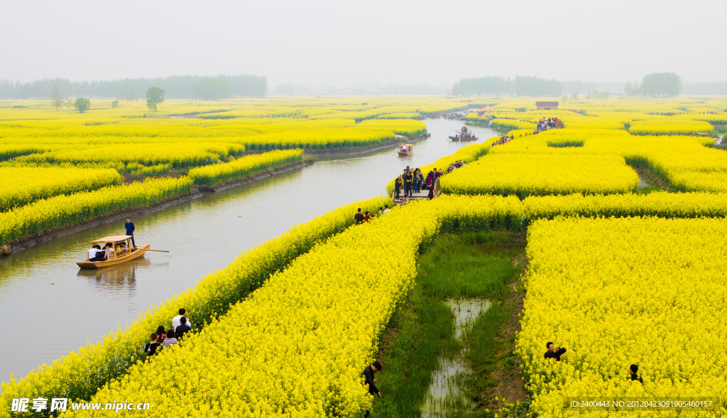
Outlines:
<svg viewBox="0 0 727 418"><path fill-rule="evenodd" d="M528 397L514 354L525 235L443 234L382 338L373 417L518 416Z"/></svg>

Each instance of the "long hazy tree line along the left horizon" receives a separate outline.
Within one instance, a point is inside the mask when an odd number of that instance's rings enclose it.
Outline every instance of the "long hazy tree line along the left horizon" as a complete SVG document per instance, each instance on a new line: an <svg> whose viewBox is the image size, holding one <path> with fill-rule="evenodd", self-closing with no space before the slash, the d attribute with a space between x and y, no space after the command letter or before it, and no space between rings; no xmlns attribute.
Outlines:
<svg viewBox="0 0 727 418"><path fill-rule="evenodd" d="M56 87L57 86L57 87ZM48 99L97 97L139 100L149 87L159 87L167 99L222 100L231 97L264 97L268 79L264 76L171 76L157 79L70 81L42 79L22 83L0 81L0 99Z"/></svg>

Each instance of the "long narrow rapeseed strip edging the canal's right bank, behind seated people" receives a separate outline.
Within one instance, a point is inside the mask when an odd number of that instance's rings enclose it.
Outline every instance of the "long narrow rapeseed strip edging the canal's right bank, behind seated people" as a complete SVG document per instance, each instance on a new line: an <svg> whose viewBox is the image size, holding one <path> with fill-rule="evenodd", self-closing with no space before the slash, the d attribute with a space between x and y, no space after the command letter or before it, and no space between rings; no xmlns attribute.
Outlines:
<svg viewBox="0 0 727 418"><path fill-rule="evenodd" d="M201 278L194 289L166 300L142 313L129 326L119 328L103 337L103 342L79 347L51 365L43 365L22 379L11 379L0 385L0 414L10 411L13 398L65 396L89 400L96 391L126 373L129 366L144 358L141 347L150 330L158 325L169 326L180 307L187 308L195 328L211 323L238 301L259 288L273 273L284 270L292 260L308 252L316 244L340 233L353 224L357 207L375 211L390 203L385 198L371 198L328 212L309 222L296 225L279 237L240 254L225 269ZM169 399L168 395L161 397ZM158 409L158 414L166 416ZM19 416L22 414L18 414Z"/></svg>

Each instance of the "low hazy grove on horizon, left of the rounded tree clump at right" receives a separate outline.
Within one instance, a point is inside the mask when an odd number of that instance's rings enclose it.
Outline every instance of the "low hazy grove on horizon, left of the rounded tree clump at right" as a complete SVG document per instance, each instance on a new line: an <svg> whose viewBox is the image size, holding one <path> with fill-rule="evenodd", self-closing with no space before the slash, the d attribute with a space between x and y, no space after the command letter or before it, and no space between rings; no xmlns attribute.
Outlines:
<svg viewBox="0 0 727 418"><path fill-rule="evenodd" d="M476 79L462 79L451 89L455 96L560 96L561 82L555 79L517 76L505 79L501 76L486 76Z"/></svg>

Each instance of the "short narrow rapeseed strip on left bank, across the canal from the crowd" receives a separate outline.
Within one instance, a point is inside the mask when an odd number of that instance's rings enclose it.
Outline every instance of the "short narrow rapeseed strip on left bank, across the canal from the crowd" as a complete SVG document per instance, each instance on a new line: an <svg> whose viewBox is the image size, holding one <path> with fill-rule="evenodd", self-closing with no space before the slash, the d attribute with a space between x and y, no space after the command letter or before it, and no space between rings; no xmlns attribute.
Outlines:
<svg viewBox="0 0 727 418"><path fill-rule="evenodd" d="M196 185L214 185L235 180L297 161L302 161L303 150L275 150L244 156L229 163L190 169L189 177Z"/></svg>

